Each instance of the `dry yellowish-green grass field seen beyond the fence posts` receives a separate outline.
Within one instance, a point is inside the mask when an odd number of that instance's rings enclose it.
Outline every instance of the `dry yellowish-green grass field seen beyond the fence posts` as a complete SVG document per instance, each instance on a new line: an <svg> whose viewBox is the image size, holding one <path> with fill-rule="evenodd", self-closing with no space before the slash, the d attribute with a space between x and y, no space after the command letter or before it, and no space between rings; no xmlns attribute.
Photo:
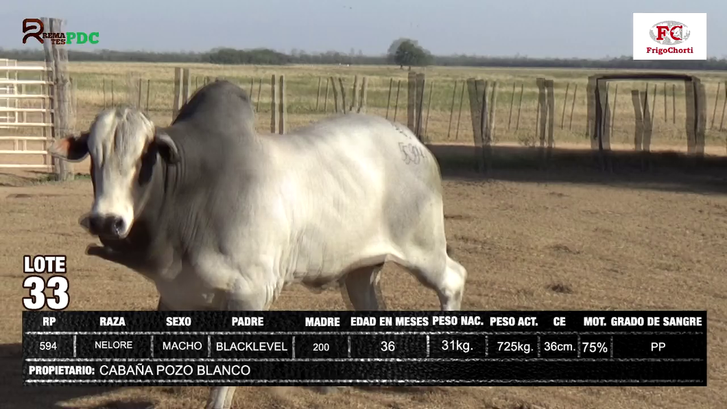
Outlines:
<svg viewBox="0 0 727 409"><path fill-rule="evenodd" d="M356 75L360 79L363 76L368 79L367 112L386 116L387 105L389 105L389 118L395 116L398 121L406 123L406 76L408 72L406 69L401 70L393 66L81 62L69 65L71 78L76 87L76 130L86 129L100 108L111 106L112 102L116 105L120 103L128 103L132 106L140 105L158 124L169 124L172 120L174 67L177 66L190 69L193 89L204 84L205 77L211 79L221 77L239 84L245 90L252 90L252 100L258 114L257 128L261 132L270 130L270 76L273 74L284 75L286 79L287 127L289 130L332 114L334 110L332 86L329 86L327 104L325 102L326 82L330 77L334 77L336 83L339 78L343 80L346 103L350 106ZM587 137L585 93L587 78L592 74L611 72L585 69L461 67L428 67L418 71L424 72L427 78L423 96L422 121L425 124L425 138L430 142L473 144L469 97L465 90L462 98L462 83L467 78L476 77L490 83L497 82L497 100L494 104L494 144L537 146L539 140L537 139L538 88L536 79L543 77L554 81L554 140L555 146L562 147L590 146ZM706 151L709 154L725 155L727 154L725 138L727 135L725 103L727 92L724 85L727 74L700 71L696 75L702 79L707 95ZM318 97L319 79L321 79L320 97ZM389 95L391 79L393 79L393 90ZM141 90L139 88L140 80ZM395 108L397 85L400 81L398 108ZM457 83L456 92L454 92L455 83ZM360 84L361 80L359 86ZM340 88L340 85L337 84L337 87ZM30 88L31 86L28 86L28 92L32 92ZM615 148L633 149L635 116L631 90L647 89L649 111L654 114L651 149L654 151L686 151L686 100L683 82L613 82L610 84L609 106L614 111L611 143ZM654 93L655 90L656 93ZM665 95L664 92L666 92ZM341 98L340 95L339 98ZM28 101L28 103L31 102ZM453 106L454 114L452 114ZM519 119L518 111L520 111ZM38 114L27 114L28 119L30 120L33 115ZM34 118L39 119L39 116L34 116ZM458 122L459 126L457 126ZM0 132L3 131L0 130ZM32 158L23 158L23 160L28 159Z"/></svg>

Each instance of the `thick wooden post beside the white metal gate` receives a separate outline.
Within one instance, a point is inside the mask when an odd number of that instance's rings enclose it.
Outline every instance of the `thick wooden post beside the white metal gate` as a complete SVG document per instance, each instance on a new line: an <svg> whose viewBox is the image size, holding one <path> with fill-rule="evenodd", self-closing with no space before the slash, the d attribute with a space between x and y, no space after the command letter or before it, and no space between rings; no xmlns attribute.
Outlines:
<svg viewBox="0 0 727 409"><path fill-rule="evenodd" d="M64 33L63 20L60 18L43 17L43 24L49 33ZM52 41L44 41L46 67L51 71L53 82L53 94L50 98L50 107L53 111L51 121L53 123L52 138L60 139L73 132L75 117L73 116L73 87L71 78L68 76L68 50L63 44L52 44ZM52 161L55 165L57 180L69 180L73 178L73 168L70 163L62 159Z"/></svg>

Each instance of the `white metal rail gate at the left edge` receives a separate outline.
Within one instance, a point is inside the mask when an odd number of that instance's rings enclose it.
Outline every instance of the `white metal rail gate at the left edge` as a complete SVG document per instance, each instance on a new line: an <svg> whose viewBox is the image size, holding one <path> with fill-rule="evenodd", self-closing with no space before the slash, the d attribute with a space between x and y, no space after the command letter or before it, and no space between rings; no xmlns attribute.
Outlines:
<svg viewBox="0 0 727 409"><path fill-rule="evenodd" d="M53 171L52 86L44 65L0 59L0 168Z"/></svg>

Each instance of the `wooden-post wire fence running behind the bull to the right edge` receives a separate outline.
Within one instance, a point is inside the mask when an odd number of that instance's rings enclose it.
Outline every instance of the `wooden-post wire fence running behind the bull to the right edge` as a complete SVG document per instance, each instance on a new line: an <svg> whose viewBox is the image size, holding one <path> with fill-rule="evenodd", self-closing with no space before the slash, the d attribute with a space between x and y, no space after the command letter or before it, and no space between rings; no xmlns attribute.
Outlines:
<svg viewBox="0 0 727 409"><path fill-rule="evenodd" d="M688 99L694 91L683 79L608 82L600 92L607 116L598 134L593 130L595 114L587 109L593 90L582 80L427 80L425 73L414 71L403 78L356 74L216 77L175 68L169 81L143 79L138 73L126 79L103 79L101 100L103 106L129 103L155 122L168 123L195 90L214 79L235 82L249 93L261 132L283 134L324 116L364 112L406 124L425 143L474 147L473 157L481 171L493 163L493 148L499 149L498 154L504 148L526 148L521 152L537 156L535 162L544 165L555 148L598 148L594 140L604 132L607 148L613 151L691 152L685 124L690 120ZM727 154L727 84L702 85L701 106L706 109L699 119L704 127L700 152ZM639 110L634 108L635 92Z"/></svg>

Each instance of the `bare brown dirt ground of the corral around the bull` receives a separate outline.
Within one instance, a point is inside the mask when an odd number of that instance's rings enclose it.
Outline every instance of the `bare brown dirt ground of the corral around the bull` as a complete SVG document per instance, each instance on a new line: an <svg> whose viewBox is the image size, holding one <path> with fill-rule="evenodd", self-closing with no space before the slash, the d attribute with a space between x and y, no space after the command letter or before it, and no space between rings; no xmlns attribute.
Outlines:
<svg viewBox="0 0 727 409"><path fill-rule="evenodd" d="M0 408L202 408L204 387L22 386L22 255L68 255L72 310L150 310L157 301L139 275L84 255L93 240L77 220L92 202L89 180L61 185L30 178L37 175L0 175ZM510 170L489 180L446 179L446 230L454 257L469 271L462 309L707 310L709 386L349 388L333 394L242 387L234 407L727 407L727 181L667 174L646 182L565 171L537 178ZM438 308L434 293L395 266L386 267L382 288L389 309ZM294 287L274 308L345 307L337 290Z"/></svg>

